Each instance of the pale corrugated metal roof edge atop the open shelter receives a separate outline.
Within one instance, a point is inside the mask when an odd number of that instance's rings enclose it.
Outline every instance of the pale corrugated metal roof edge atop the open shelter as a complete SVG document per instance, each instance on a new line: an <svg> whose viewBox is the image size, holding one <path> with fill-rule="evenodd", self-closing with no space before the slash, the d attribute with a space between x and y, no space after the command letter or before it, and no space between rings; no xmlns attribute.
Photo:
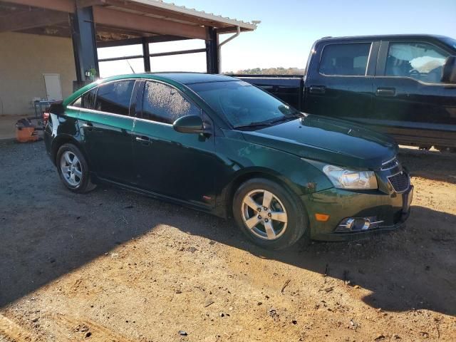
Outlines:
<svg viewBox="0 0 456 342"><path fill-rule="evenodd" d="M256 24L252 24L246 21L241 21L237 19L231 19L224 16L217 16L212 13L206 13L204 11L197 11L196 9L189 9L185 6L177 6L175 4L170 4L164 2L162 0L130 0L130 2L138 3L146 6L153 6L158 9L162 9L165 11L172 11L175 13L187 15L187 16L194 16L197 18L205 19L207 21L215 21L217 23L223 24L224 27L227 26L239 26L242 28L242 31L254 31L257 28Z"/></svg>

